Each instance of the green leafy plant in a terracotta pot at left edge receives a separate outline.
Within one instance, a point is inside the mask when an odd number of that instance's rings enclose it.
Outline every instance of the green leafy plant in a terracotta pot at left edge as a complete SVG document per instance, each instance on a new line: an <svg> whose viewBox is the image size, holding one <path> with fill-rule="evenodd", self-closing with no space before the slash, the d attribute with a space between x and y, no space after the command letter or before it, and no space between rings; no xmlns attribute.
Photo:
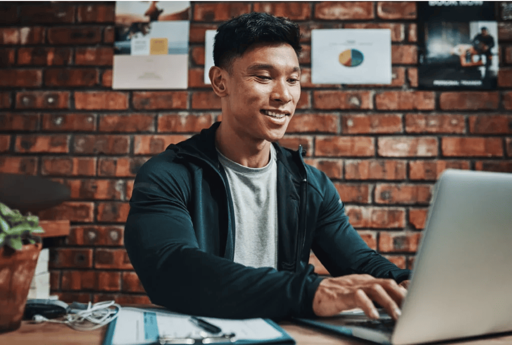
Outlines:
<svg viewBox="0 0 512 345"><path fill-rule="evenodd" d="M39 218L23 216L0 202L0 332L22 322L30 283L42 247Z"/></svg>

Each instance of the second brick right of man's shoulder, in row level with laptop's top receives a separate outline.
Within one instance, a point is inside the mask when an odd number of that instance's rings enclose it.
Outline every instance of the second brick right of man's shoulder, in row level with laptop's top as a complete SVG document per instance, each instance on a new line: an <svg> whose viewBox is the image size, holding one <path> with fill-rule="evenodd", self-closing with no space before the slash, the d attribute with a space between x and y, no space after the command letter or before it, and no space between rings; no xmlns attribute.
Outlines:
<svg viewBox="0 0 512 345"><path fill-rule="evenodd" d="M347 159L345 160L345 179L402 180L406 178L406 169L404 160Z"/></svg>

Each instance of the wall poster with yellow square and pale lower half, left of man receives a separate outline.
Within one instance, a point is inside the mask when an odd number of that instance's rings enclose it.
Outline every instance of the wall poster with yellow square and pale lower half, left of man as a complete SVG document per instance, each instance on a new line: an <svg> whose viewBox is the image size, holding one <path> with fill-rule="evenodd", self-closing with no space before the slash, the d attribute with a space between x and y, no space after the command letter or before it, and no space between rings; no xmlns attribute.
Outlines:
<svg viewBox="0 0 512 345"><path fill-rule="evenodd" d="M116 1L113 89L188 86L189 1Z"/></svg>

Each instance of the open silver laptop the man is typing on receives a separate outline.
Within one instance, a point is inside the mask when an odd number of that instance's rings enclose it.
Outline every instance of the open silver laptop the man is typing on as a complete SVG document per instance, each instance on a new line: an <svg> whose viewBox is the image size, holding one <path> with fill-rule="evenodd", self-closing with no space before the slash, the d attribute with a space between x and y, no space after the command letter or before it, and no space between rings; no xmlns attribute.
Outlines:
<svg viewBox="0 0 512 345"><path fill-rule="evenodd" d="M362 312L300 322L393 345L512 331L512 174L442 173L396 323Z"/></svg>

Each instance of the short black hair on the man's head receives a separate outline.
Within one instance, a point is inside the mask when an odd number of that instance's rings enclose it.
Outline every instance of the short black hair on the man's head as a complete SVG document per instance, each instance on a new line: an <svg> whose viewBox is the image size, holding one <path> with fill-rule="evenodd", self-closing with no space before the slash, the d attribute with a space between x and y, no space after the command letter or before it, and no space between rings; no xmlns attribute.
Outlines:
<svg viewBox="0 0 512 345"><path fill-rule="evenodd" d="M288 43L297 57L301 53L301 30L285 17L251 12L224 21L215 35L214 64L227 68L255 43Z"/></svg>

